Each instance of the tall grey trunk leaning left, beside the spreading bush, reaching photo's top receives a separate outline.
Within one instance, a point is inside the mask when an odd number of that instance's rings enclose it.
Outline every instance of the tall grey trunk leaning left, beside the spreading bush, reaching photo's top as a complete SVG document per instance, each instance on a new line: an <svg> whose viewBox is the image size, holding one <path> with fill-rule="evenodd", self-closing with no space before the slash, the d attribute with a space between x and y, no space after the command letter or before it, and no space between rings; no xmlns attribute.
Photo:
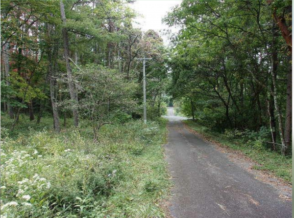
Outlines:
<svg viewBox="0 0 294 218"><path fill-rule="evenodd" d="M66 24L66 17L64 12L64 5L62 0L60 0L60 13L61 13L61 20L63 25ZM75 127L78 127L78 110L76 108L76 104L78 102L77 94L75 92L75 87L73 83L73 75L72 75L72 68L70 65L70 50L69 50L69 39L68 39L68 33L65 27L62 28L62 38L63 38L63 44L64 44L64 58L66 62L66 71L68 76L68 84L70 89L70 96L71 100L73 101L73 124Z"/></svg>

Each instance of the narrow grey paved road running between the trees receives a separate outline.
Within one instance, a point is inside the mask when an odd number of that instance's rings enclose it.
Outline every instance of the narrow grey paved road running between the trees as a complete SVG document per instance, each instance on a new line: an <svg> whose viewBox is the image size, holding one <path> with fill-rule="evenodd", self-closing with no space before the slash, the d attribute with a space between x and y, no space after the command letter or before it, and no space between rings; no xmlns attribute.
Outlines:
<svg viewBox="0 0 294 218"><path fill-rule="evenodd" d="M291 218L292 202L279 198L272 186L230 162L168 109L166 148L174 187L174 218Z"/></svg>

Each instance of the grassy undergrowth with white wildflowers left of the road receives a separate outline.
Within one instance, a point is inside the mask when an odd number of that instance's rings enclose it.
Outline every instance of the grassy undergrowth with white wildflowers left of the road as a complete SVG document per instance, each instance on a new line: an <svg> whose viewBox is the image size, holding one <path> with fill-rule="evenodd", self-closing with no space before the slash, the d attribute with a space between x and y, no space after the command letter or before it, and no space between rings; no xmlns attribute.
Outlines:
<svg viewBox="0 0 294 218"><path fill-rule="evenodd" d="M1 217L164 217L166 122L105 125L94 144L86 121L57 134L49 118L10 131L2 116Z"/></svg>

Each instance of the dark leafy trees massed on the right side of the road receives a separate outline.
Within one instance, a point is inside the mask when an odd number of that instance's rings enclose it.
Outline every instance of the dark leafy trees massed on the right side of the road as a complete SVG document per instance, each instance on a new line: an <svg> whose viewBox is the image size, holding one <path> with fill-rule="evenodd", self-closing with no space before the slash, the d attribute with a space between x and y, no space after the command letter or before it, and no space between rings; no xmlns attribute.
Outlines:
<svg viewBox="0 0 294 218"><path fill-rule="evenodd" d="M165 21L181 28L169 61L181 111L291 153L292 1L185 0Z"/></svg>

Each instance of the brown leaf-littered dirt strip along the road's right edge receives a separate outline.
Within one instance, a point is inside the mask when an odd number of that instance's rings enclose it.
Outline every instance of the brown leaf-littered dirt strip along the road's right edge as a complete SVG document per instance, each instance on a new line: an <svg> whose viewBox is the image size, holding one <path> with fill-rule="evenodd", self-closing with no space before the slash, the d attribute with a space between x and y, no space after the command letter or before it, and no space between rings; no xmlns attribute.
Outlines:
<svg viewBox="0 0 294 218"><path fill-rule="evenodd" d="M204 141L212 144L218 151L224 153L230 161L237 164L241 168L245 169L247 172L253 174L256 179L270 184L272 187L276 188L280 195L280 199L282 200L292 200L292 185L285 180L275 176L269 171L265 170L257 170L254 169L255 166L262 166L261 164L255 162L244 153L240 151L233 150L228 146L222 145L220 142L215 141L193 129L191 129L187 124L184 123L184 126L187 130L193 132L199 138L203 139Z"/></svg>

